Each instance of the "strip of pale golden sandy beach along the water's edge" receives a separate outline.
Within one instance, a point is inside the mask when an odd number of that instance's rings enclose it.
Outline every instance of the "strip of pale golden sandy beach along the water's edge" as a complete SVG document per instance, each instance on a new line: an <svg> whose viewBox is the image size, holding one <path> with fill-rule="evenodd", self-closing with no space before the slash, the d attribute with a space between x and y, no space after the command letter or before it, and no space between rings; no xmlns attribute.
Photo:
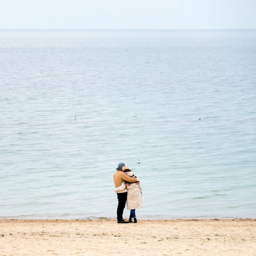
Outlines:
<svg viewBox="0 0 256 256"><path fill-rule="evenodd" d="M0 256L256 255L256 220L0 220Z"/></svg>

